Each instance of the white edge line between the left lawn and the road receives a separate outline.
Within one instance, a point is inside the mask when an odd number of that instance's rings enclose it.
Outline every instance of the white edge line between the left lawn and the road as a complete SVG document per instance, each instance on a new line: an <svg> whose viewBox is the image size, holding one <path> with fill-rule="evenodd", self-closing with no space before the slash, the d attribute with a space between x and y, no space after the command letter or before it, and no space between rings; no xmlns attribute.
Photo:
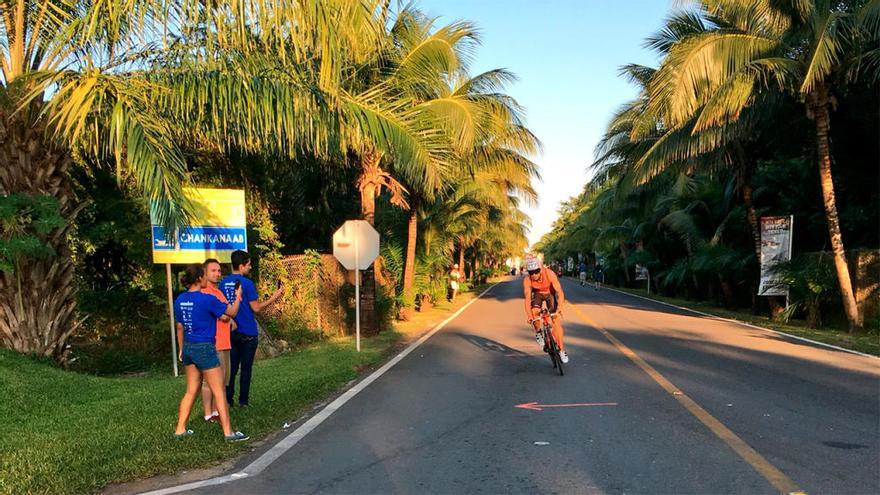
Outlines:
<svg viewBox="0 0 880 495"><path fill-rule="evenodd" d="M263 455L258 457L254 462L248 464L244 469L237 473L232 473L224 476L218 476L216 478L208 478L202 481L194 481L192 483L186 483L183 485L171 486L168 488L162 488L159 490L153 490L149 492L143 492L140 495L169 495L172 493L180 493L187 490L195 490L198 488L203 488L206 486L214 486L221 485L223 483L228 483L230 481L240 480L243 478L248 478L251 476L256 476L260 474L264 469L269 467L275 460L284 455L285 452L293 448L294 445L299 443L306 435L308 435L312 430L318 427L321 423L324 422L331 414L336 412L339 408L341 408L346 402L351 400L355 395L357 395L361 390L365 389L368 385L376 381L380 376L385 374L386 371L390 370L394 365L399 363L403 358L405 358L409 353L414 351L418 346L422 345L426 340L431 338L435 333L439 332L443 327L446 326L447 323L455 319L458 315L464 312L471 304L477 302L480 298L486 295L487 292L495 288L501 282L496 282L492 284L489 288L484 290L474 299L468 301L467 304L459 308L458 311L452 314L449 318L446 318L442 322L438 323L434 326L434 328L430 329L428 333L423 335L419 340L413 342L406 349L400 352L400 354L394 356L391 361L388 361L378 370L374 371L370 376L364 378L360 382L356 383L350 389L343 392L342 395L336 398L333 402L328 404L324 409L309 418L308 421L300 425L299 428L290 432L286 437L282 438L280 442L276 443L272 448L266 451Z"/></svg>

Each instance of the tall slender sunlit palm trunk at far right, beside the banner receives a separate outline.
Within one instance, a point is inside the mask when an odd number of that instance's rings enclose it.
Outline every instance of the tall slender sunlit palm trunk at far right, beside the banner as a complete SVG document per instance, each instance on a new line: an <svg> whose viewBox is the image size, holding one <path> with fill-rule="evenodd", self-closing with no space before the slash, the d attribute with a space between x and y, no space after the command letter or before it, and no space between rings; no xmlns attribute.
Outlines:
<svg viewBox="0 0 880 495"><path fill-rule="evenodd" d="M816 90L808 95L807 104L811 107L813 121L816 125L819 180L822 185L822 199L825 206L825 219L828 223L828 235L831 238L834 267L837 270L837 281L840 284L843 309L847 320L849 320L849 329L853 331L861 329L863 322L853 294L852 279L849 276L849 266L846 264L846 251L843 247L843 235L840 232L840 221L837 216L837 202L834 198L831 152L828 146L828 130L831 127L831 116L828 112L828 88L824 82L819 83Z"/></svg>

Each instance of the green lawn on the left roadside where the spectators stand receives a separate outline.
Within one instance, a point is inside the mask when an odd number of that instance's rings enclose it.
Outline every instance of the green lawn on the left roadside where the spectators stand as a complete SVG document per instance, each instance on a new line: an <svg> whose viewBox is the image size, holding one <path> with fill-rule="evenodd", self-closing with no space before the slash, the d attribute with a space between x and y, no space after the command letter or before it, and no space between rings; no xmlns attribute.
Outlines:
<svg viewBox="0 0 880 495"><path fill-rule="evenodd" d="M279 430L385 360L402 340L447 318L453 305L416 313L395 331L361 341L322 341L254 364L251 406L232 410L233 428L254 440ZM91 493L110 483L205 467L246 452L207 425L197 401L195 435L172 439L183 378L159 373L97 377L0 349L0 493Z"/></svg>

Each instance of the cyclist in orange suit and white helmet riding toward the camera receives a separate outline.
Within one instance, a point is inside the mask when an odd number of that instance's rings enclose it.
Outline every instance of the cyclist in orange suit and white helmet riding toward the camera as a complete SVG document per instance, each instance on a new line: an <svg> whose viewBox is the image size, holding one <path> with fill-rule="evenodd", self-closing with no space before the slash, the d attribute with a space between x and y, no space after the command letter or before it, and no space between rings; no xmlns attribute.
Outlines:
<svg viewBox="0 0 880 495"><path fill-rule="evenodd" d="M544 347L544 335L541 333L541 322L538 316L541 314L541 305L546 303L547 311L556 313L553 318L553 338L559 345L559 358L568 363L568 354L565 352L565 344L562 342L562 305L565 303L565 294L562 292L562 284L553 270L543 266L541 260L535 255L526 256L526 270L529 275L523 279L523 293L525 295L526 315L529 322L535 327L535 341Z"/></svg>

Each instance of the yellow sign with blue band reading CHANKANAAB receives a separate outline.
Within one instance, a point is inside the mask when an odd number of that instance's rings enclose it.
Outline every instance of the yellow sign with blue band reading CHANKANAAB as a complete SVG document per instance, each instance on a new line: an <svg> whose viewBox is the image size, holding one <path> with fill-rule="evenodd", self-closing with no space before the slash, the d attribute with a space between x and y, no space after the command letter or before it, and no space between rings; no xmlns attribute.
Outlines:
<svg viewBox="0 0 880 495"><path fill-rule="evenodd" d="M153 263L201 263L207 258L228 263L233 251L247 250L244 191L185 188L184 193L197 207L192 225L169 236L151 212Z"/></svg>

